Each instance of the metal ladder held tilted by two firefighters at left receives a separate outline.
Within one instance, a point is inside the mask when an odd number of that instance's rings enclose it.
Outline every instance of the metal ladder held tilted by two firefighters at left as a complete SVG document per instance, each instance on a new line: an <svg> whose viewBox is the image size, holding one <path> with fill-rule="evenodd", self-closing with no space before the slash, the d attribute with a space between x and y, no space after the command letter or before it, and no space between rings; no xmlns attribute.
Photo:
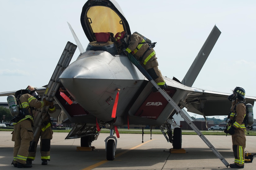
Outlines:
<svg viewBox="0 0 256 170"><path fill-rule="evenodd" d="M66 67L68 67L68 65L74 55L76 47L77 46L74 45L73 43L71 43L69 41L67 42L67 45L65 46L65 49L64 49L63 53L61 54L61 58L60 58L57 66L52 74L52 77L45 89L45 92L42 96L41 101L43 101L43 98L45 98L48 101L53 100L53 98L56 94L56 91L58 90L58 87L60 85L59 76L64 71L64 69ZM34 128L33 128L34 137L38 133L38 130L42 124L42 121L43 121L44 117L47 115L48 109L49 109L49 106L43 106L40 109L36 110L36 112L34 114ZM34 139L31 142L31 144L33 142L34 142Z"/></svg>

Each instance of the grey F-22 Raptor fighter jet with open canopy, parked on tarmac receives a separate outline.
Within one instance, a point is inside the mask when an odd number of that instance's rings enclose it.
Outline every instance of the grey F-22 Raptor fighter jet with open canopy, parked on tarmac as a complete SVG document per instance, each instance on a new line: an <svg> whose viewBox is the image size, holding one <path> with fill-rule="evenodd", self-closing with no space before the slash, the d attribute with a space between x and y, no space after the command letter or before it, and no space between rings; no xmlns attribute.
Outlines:
<svg viewBox="0 0 256 170"><path fill-rule="evenodd" d="M181 128L174 131L171 128L177 111L161 93L152 91L152 83L126 55L119 53L113 42L118 32L131 34L117 2L88 0L82 9L81 24L90 42L84 50L70 26L81 54L59 77L59 88L64 89L63 93L73 103L68 104L59 93L54 97L56 105L60 106L59 118L63 114L67 117L63 123L76 123L66 139L81 138L81 146L91 146L102 127L110 129L110 137L105 140L106 157L114 160L117 139L113 135L118 133L117 128L147 125L167 128L168 142L174 149L180 149ZM187 111L203 116L223 116L230 111L231 102L227 99L230 94L191 87L220 34L214 26L182 81L164 77L168 86L164 91L181 109L185 107ZM44 90L42 87L38 92ZM13 92L0 95L9 94ZM255 101L255 97L246 96L247 103L254 105ZM116 109L114 116L113 107Z"/></svg>

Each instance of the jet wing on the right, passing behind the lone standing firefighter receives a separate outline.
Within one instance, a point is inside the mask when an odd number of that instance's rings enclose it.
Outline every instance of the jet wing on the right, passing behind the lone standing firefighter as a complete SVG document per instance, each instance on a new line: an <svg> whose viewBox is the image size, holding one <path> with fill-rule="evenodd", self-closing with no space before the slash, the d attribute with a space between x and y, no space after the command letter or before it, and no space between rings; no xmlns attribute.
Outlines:
<svg viewBox="0 0 256 170"><path fill-rule="evenodd" d="M201 93L191 92L186 97L187 111L205 116L228 115L231 102L227 99L230 94L202 90ZM255 97L245 96L246 104L254 105Z"/></svg>

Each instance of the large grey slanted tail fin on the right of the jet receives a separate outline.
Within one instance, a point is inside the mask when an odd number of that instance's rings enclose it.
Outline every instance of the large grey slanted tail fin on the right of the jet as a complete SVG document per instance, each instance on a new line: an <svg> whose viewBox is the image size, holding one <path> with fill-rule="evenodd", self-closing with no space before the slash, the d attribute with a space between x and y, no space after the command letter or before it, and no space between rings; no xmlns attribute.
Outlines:
<svg viewBox="0 0 256 170"><path fill-rule="evenodd" d="M221 32L217 28L216 25L214 25L211 33L209 34L208 38L204 42L204 45L202 46L201 50L197 54L194 62L190 66L188 72L186 73L186 76L182 80L182 84L191 87L193 83L195 82L196 77L198 76L200 70L202 69L206 59L208 58L210 52L213 49L213 46L215 45L216 41L218 40Z"/></svg>

